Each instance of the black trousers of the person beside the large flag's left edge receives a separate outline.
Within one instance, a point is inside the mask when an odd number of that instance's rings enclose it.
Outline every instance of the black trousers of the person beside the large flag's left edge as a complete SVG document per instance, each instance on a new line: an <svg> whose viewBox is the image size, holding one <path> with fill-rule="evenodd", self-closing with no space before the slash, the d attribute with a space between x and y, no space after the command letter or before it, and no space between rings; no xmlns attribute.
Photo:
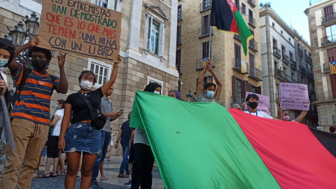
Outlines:
<svg viewBox="0 0 336 189"><path fill-rule="evenodd" d="M132 168L132 186L131 189L151 189L152 188L152 170L154 155L151 146L146 144L134 144L134 161Z"/></svg>

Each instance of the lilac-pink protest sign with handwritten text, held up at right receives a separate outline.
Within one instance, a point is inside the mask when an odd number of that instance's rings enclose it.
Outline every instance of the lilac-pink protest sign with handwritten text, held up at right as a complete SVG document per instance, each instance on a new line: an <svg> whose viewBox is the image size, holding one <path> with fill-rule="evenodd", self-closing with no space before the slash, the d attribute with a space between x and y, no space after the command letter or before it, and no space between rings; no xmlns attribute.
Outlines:
<svg viewBox="0 0 336 189"><path fill-rule="evenodd" d="M307 85L280 83L280 98L280 109L309 110Z"/></svg>

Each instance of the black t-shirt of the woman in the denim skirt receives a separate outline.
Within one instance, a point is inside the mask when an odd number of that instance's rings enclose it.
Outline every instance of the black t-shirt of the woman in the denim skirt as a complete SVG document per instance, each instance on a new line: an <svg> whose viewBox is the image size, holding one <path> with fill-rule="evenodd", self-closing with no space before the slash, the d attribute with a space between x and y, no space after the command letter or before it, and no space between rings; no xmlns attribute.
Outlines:
<svg viewBox="0 0 336 189"><path fill-rule="evenodd" d="M76 92L70 94L69 97L66 98L65 103L72 105L72 120L71 123L78 123L83 120L90 120L90 109L87 107L84 99L80 97L80 95L84 95ZM102 97L104 96L102 89L98 88L97 90L92 90L87 92L86 95L87 99L90 101L91 106L94 109L100 111L100 106L102 104Z"/></svg>

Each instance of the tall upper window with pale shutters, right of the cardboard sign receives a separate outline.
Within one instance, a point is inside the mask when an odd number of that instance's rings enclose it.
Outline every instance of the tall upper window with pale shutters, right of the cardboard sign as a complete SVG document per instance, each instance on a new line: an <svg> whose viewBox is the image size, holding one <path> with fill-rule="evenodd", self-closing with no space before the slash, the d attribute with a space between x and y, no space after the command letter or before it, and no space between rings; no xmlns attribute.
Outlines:
<svg viewBox="0 0 336 189"><path fill-rule="evenodd" d="M156 55L163 56L165 47L165 24L148 14L146 15L145 25L145 49Z"/></svg>

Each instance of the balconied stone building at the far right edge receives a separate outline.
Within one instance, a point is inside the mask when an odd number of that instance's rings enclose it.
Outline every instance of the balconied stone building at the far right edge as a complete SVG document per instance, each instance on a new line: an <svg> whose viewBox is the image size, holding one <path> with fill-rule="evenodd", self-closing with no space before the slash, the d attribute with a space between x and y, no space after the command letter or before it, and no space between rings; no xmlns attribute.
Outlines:
<svg viewBox="0 0 336 189"><path fill-rule="evenodd" d="M315 77L318 124L323 130L336 125L336 74L329 62L336 60L336 1L311 1L304 10L309 22L311 55Z"/></svg>

